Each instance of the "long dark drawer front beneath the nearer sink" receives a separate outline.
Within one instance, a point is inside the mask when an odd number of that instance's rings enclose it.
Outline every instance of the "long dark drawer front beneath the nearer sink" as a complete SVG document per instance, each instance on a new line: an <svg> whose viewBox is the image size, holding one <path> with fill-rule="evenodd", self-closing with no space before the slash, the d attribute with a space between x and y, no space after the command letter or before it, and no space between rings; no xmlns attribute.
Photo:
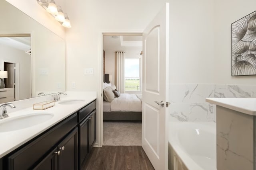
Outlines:
<svg viewBox="0 0 256 170"><path fill-rule="evenodd" d="M8 156L9 170L26 170L38 163L38 160L77 125L77 114L68 117L58 125L43 133L31 143L22 146L20 150Z"/></svg>

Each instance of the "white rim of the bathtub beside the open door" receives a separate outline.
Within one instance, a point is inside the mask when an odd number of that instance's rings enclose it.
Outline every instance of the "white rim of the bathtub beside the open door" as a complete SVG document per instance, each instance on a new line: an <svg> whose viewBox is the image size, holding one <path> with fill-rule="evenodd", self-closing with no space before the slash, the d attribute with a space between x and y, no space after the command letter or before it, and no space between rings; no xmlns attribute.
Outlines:
<svg viewBox="0 0 256 170"><path fill-rule="evenodd" d="M213 123L214 122L169 122L169 123L174 123L174 124L181 124L181 123L186 123L186 124L200 124L203 127L206 127L206 124ZM215 124L216 125L216 124ZM208 131L209 129L206 128L204 129ZM172 146L172 149L176 152L178 157L182 160L184 165L189 169L189 170L204 170L199 164L197 164L190 156L189 154L183 149L183 147L180 145L179 140L178 140L178 133L177 131L173 131L171 129L171 125L169 125L169 144Z"/></svg>

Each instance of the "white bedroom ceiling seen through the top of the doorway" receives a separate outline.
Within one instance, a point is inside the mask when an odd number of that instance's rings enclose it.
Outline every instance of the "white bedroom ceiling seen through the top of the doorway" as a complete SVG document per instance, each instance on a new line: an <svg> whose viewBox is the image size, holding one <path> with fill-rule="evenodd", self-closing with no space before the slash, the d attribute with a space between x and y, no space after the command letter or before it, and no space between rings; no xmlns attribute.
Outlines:
<svg viewBox="0 0 256 170"><path fill-rule="evenodd" d="M103 44L105 51L133 51L140 54L142 51L142 35L104 35Z"/></svg>

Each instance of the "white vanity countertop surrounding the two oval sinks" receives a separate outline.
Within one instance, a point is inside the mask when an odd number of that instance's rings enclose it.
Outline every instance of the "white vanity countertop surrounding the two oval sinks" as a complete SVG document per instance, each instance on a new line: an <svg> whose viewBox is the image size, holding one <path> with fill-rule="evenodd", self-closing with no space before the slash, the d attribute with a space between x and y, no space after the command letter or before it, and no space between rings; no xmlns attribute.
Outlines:
<svg viewBox="0 0 256 170"><path fill-rule="evenodd" d="M76 96L76 95L64 96L64 95L62 95L60 97L62 99L61 101L80 99L80 100L84 100L84 102L79 102L77 104L70 104L70 105L61 105L61 104L58 104L58 102L56 102L55 106L50 107L45 110L33 110L33 107L31 105L31 107L23 108L20 110L17 110L18 108L16 108L15 109L16 111L10 112L10 113L8 112L9 117L5 118L5 119L10 119L12 117L26 115L26 114L30 114L30 113L36 114L36 113L45 113L45 112L54 113L54 116L51 119L45 121L44 123L40 123L40 124L34 125L32 127L19 129L16 131L0 132L0 139L1 139L0 140L1 141L0 142L0 158L5 156L12 150L20 147L24 143L30 141L30 139L33 139L34 137L36 137L40 133L44 132L45 130L49 129L56 123L62 121L66 117L72 115L73 113L75 113L76 111L78 111L79 109L84 107L86 104L95 100L96 92L95 93L89 92L87 95L80 95L80 96ZM31 99L31 100L33 100L33 99ZM20 102L22 102L22 101L20 101ZM2 120L5 120L5 119L2 119ZM0 122L2 120L0 120Z"/></svg>

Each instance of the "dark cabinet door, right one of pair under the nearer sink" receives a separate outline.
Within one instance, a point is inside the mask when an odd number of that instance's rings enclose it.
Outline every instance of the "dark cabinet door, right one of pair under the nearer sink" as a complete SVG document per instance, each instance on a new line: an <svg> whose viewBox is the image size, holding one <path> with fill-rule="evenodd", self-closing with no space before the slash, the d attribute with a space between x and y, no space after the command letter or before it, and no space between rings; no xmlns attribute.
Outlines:
<svg viewBox="0 0 256 170"><path fill-rule="evenodd" d="M77 170L78 128L74 129L58 146L59 170Z"/></svg>

